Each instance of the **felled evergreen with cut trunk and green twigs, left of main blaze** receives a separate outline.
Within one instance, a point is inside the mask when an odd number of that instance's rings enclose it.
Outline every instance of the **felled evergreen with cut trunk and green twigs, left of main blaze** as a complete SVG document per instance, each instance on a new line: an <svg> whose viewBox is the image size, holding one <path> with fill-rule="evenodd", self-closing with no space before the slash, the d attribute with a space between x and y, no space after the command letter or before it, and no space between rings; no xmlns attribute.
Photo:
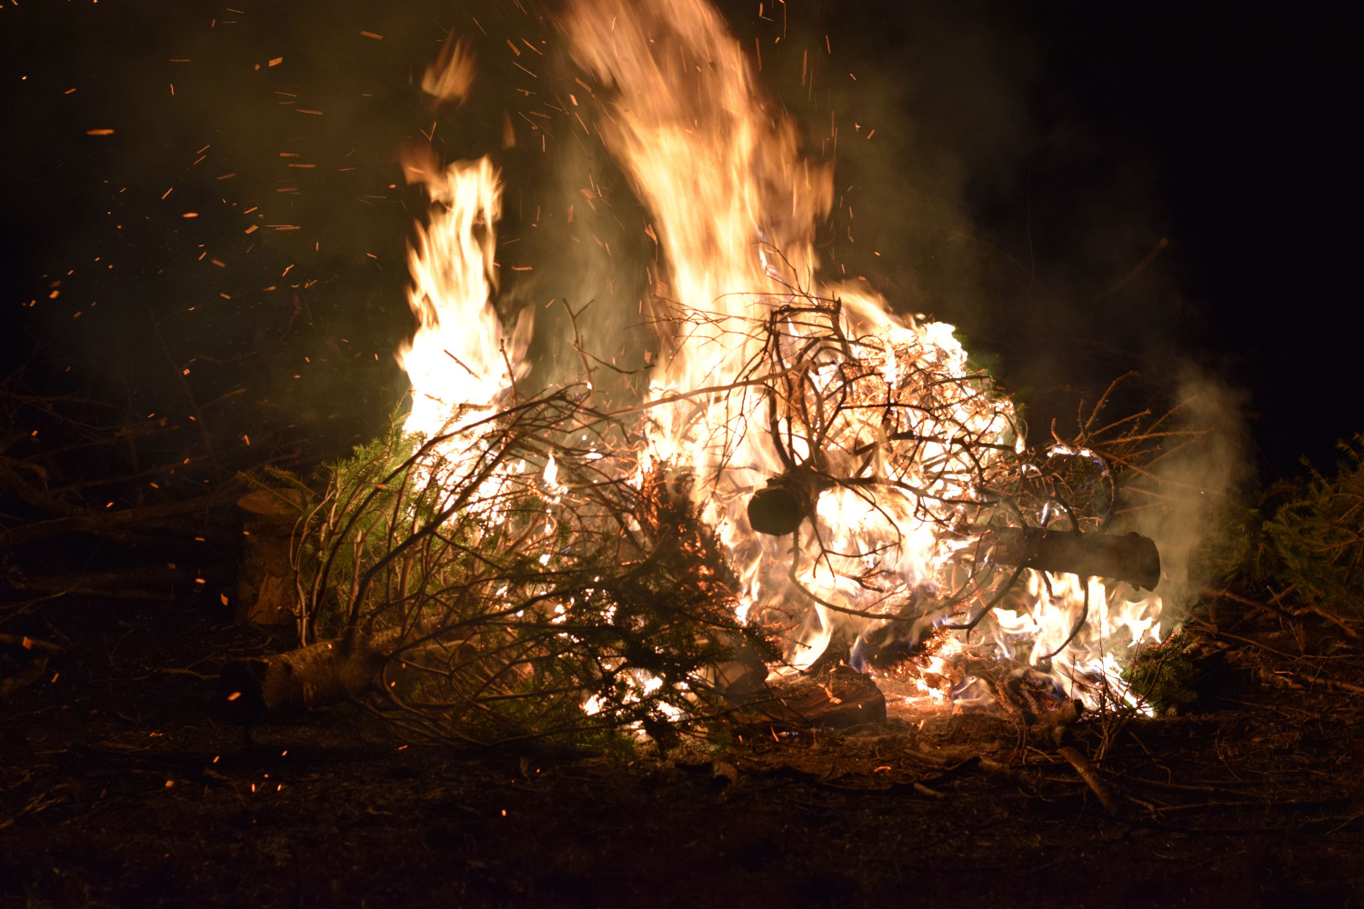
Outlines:
<svg viewBox="0 0 1364 909"><path fill-rule="evenodd" d="M769 647L735 619L690 480L636 473L569 391L461 418L330 469L296 549L311 646L237 664L235 709L360 696L406 740L484 745L666 737L727 710L720 665Z"/></svg>

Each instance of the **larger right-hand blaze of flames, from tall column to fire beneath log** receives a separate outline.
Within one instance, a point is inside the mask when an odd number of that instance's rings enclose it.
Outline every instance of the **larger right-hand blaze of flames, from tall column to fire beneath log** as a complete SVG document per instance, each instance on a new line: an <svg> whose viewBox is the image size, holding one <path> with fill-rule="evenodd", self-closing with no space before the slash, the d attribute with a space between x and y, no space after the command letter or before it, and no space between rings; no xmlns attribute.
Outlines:
<svg viewBox="0 0 1364 909"><path fill-rule="evenodd" d="M813 234L829 211L832 170L802 155L794 125L764 101L712 7L573 0L566 31L580 65L614 90L600 129L655 215L664 258L651 452L697 473L697 503L746 585L750 620L782 627L780 616L795 612L784 623L787 656L807 666L836 624L885 626L952 583L953 557L979 536L944 529L982 502L975 481L990 452L1022 451L1012 405L974 380L951 326L904 322L862 288L820 285ZM831 305L820 315L814 301ZM779 405L772 388L783 383ZM853 405L820 417L814 432L809 414L797 417L818 410L835 383ZM884 406L892 399L908 405L893 427ZM917 442L898 450L892 437ZM981 444L967 452L953 443L960 437ZM816 526L797 530L794 545L754 533L750 496L810 465L848 478L816 489ZM1030 609L994 611L1008 654L1063 649L1093 601L1056 662L1063 675L1114 680L1106 642L1118 631L1133 643L1150 636L1159 600L1109 602L1097 579L1028 574ZM925 615L910 634L943 621ZM1026 645L1030 653L1015 654Z"/></svg>

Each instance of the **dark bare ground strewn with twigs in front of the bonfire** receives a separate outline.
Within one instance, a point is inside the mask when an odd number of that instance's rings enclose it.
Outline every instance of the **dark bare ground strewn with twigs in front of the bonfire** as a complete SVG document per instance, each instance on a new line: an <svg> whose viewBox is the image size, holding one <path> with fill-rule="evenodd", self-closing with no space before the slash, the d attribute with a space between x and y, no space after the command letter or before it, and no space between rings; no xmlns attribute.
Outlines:
<svg viewBox="0 0 1364 909"><path fill-rule="evenodd" d="M1180 718L566 762L401 747L349 706L247 733L213 676L269 642L207 604L46 619L68 651L0 699L5 906L1364 906L1356 647L1245 638Z"/></svg>

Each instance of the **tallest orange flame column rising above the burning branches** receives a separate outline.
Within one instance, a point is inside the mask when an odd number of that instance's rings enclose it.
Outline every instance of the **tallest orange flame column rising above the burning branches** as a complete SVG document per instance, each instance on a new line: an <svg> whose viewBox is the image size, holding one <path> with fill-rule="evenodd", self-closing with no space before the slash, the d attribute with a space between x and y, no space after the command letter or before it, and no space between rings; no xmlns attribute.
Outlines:
<svg viewBox="0 0 1364 909"><path fill-rule="evenodd" d="M657 218L668 274L656 292L677 304L666 315L687 326L670 338L653 395L732 382L758 343L756 308L813 275L814 225L832 203L832 172L801 157L794 125L764 106L708 4L578 0L567 30L578 63L617 89L619 110L600 127ZM760 260L760 241L782 251L780 268ZM689 427L689 412L655 410L660 457L716 437L712 421Z"/></svg>

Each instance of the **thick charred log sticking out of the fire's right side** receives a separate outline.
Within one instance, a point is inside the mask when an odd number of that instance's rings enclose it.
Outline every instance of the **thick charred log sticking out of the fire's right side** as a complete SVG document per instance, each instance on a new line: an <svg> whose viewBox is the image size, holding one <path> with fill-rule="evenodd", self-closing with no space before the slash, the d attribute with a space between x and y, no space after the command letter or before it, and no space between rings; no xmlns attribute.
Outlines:
<svg viewBox="0 0 1364 909"><path fill-rule="evenodd" d="M989 527L982 548L993 561L1080 578L1127 581L1144 590L1161 582L1161 553L1139 533L1073 533L1037 527Z"/></svg>

